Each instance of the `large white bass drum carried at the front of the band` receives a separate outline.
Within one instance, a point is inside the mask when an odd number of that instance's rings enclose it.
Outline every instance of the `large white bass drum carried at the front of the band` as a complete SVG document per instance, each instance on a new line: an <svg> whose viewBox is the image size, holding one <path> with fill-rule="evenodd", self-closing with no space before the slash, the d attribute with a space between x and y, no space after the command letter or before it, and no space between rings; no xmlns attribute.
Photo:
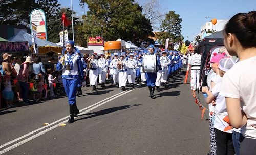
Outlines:
<svg viewBox="0 0 256 155"><path fill-rule="evenodd" d="M157 71L157 55L144 55L142 63L143 72Z"/></svg>

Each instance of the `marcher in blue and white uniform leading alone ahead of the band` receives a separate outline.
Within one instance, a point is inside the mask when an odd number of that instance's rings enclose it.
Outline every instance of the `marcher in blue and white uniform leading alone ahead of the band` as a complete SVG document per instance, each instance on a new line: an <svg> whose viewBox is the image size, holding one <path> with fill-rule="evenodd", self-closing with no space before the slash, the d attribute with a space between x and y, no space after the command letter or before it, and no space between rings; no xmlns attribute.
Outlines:
<svg viewBox="0 0 256 155"><path fill-rule="evenodd" d="M79 114L76 106L76 92L79 81L84 77L81 57L75 53L76 50L78 49L74 49L74 41L67 41L66 48L62 51L63 56L56 66L57 70L62 69L63 86L69 99L70 115L68 123L73 123L75 121L74 117ZM67 51L67 54L64 55L65 51Z"/></svg>

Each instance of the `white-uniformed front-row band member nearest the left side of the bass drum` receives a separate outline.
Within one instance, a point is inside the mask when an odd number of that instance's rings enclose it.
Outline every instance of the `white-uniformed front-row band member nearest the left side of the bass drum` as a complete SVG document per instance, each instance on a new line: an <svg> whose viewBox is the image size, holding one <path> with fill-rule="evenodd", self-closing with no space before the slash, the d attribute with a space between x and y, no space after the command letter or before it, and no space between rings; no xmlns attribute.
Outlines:
<svg viewBox="0 0 256 155"><path fill-rule="evenodd" d="M128 74L128 83L134 87L135 79L136 79L136 71L137 60L134 58L133 53L129 54L129 59L127 60L127 74Z"/></svg>

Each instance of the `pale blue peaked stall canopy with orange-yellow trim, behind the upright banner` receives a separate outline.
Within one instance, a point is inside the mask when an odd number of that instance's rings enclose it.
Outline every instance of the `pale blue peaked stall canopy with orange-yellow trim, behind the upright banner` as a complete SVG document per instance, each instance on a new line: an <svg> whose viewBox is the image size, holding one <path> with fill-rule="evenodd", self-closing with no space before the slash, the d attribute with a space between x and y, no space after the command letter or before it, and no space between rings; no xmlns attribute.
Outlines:
<svg viewBox="0 0 256 155"><path fill-rule="evenodd" d="M32 46L32 35L28 34L24 30L19 31L15 36L8 39L9 41L28 41L30 50L33 51ZM52 43L50 41L42 40L37 38L36 44L38 46L39 54L46 54L48 52L61 53L62 47L57 45L56 43Z"/></svg>

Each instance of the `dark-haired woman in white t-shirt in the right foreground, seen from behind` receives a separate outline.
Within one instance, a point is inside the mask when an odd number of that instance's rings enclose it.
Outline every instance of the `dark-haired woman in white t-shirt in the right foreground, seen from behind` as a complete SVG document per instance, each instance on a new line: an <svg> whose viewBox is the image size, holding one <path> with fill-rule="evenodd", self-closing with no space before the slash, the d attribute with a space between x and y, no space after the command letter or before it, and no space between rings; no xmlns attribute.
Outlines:
<svg viewBox="0 0 256 155"><path fill-rule="evenodd" d="M220 95L226 97L230 123L244 135L240 154L256 152L256 11L238 13L226 24L224 45L238 56L223 77ZM242 108L242 110L241 110Z"/></svg>

